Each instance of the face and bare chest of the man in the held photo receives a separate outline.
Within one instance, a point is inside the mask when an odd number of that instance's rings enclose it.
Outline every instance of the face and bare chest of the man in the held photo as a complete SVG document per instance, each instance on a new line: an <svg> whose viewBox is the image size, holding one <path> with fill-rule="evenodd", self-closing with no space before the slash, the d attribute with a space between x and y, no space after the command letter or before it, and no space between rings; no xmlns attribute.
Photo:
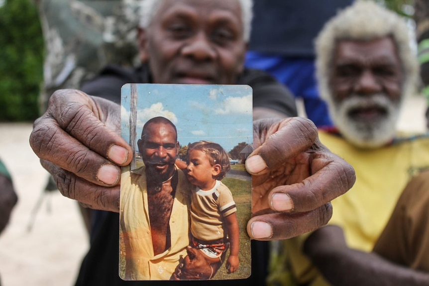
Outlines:
<svg viewBox="0 0 429 286"><path fill-rule="evenodd" d="M150 230L153 251L158 255L171 246L169 221L177 187L174 162L179 142L173 126L154 122L145 126L137 145L146 166ZM159 186L161 191L156 191Z"/></svg>

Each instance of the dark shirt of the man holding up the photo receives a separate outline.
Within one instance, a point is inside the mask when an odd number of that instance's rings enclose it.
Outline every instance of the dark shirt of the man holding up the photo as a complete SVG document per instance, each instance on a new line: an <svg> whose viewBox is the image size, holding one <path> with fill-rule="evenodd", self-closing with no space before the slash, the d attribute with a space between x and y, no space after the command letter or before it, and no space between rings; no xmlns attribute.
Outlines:
<svg viewBox="0 0 429 286"><path fill-rule="evenodd" d="M134 70L117 66L106 67L93 81L84 83L82 91L120 104L120 89L126 83L151 83L148 67ZM245 69L237 84L253 89L253 107L267 107L297 116L293 95L270 75L257 70ZM119 213L95 211L95 224L91 233L91 247L82 262L76 286L122 285L207 285L249 286L265 285L267 276L268 242L252 241L252 274L243 280L226 281L123 281L119 278Z"/></svg>

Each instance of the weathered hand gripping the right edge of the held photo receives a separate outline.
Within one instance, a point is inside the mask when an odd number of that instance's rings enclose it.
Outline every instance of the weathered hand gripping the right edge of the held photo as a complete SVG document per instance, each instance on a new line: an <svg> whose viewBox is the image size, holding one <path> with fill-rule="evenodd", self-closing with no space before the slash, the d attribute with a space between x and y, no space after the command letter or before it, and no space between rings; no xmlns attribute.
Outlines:
<svg viewBox="0 0 429 286"><path fill-rule="evenodd" d="M287 239L325 225L330 201L356 180L353 168L319 141L312 121L293 117L254 121L252 239Z"/></svg>

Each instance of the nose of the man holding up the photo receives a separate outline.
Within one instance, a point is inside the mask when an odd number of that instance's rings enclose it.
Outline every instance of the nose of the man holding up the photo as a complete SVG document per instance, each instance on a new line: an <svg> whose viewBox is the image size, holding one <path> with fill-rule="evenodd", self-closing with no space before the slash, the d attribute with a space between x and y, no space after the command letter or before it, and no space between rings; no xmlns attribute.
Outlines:
<svg viewBox="0 0 429 286"><path fill-rule="evenodd" d="M183 47L182 53L201 61L213 59L216 56L209 36L203 31L196 33L189 39Z"/></svg>

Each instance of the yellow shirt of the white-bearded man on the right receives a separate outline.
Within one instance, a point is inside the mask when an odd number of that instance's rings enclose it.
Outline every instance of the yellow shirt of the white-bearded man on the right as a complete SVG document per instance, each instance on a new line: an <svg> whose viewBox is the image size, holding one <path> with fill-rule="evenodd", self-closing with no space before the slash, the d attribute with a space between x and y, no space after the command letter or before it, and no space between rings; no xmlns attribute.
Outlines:
<svg viewBox="0 0 429 286"><path fill-rule="evenodd" d="M349 247L370 252L407 183L428 168L429 138L402 140L383 148L364 150L333 134L320 131L319 136L329 150L356 171L353 188L332 201L333 214L328 224L341 226ZM301 252L308 235L284 242L293 276L299 283L328 285Z"/></svg>

